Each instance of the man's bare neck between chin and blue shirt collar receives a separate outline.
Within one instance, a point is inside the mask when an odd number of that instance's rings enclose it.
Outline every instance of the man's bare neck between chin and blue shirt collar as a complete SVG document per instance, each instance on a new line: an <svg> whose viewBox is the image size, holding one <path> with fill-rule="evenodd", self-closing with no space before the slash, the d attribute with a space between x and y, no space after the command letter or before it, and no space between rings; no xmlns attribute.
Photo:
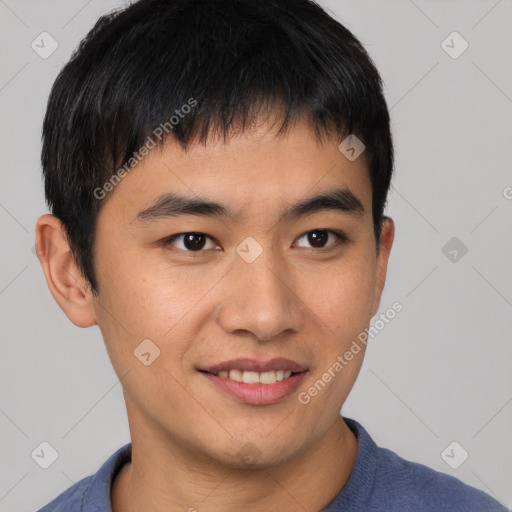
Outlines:
<svg viewBox="0 0 512 512"><path fill-rule="evenodd" d="M300 455L265 469L207 461L169 437L164 442L159 437L137 436L132 424L130 430L132 460L113 482L113 512L321 510L345 486L358 449L341 416Z"/></svg>

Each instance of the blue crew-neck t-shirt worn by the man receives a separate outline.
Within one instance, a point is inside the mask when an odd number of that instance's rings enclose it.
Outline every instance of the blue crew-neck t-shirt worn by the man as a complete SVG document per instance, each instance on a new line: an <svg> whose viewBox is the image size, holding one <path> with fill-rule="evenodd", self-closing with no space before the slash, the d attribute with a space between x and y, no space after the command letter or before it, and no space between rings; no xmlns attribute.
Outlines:
<svg viewBox="0 0 512 512"><path fill-rule="evenodd" d="M344 418L359 442L345 487L319 512L508 512L493 498L460 480L379 448L356 421ZM110 489L131 443L38 512L112 512Z"/></svg>

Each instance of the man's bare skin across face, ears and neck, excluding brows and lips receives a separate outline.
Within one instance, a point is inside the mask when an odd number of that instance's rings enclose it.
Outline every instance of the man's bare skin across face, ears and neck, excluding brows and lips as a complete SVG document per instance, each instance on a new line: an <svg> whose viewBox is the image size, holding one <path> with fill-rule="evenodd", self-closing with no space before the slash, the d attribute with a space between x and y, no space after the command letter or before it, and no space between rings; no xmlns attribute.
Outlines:
<svg viewBox="0 0 512 512"><path fill-rule="evenodd" d="M114 481L114 512L318 511L346 484L358 445L340 409L364 350L310 403L297 395L376 314L394 225L384 219L377 253L364 157L349 161L339 142L332 136L320 144L305 122L279 137L261 122L227 143L210 139L184 151L169 140L154 149L103 200L97 296L61 223L51 215L38 220L53 297L74 324L99 326L123 386L132 462ZM360 199L364 215L278 220L282 208L340 186ZM206 197L243 216L134 221L164 192ZM329 235L322 252L307 237L319 229L343 231L349 242L337 246ZM185 252L183 239L162 242L188 232L212 238L202 252ZM247 236L263 249L250 264L235 252ZM150 366L134 357L146 338L161 351ZM238 357L286 357L309 372L284 400L248 405L197 371ZM248 447L250 460L240 456Z"/></svg>

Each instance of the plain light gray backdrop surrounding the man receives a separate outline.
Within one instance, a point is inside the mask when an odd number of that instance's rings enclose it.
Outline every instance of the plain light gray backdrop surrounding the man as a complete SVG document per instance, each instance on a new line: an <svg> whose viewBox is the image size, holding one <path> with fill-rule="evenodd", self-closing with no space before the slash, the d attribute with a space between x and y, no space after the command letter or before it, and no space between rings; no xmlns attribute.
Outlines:
<svg viewBox="0 0 512 512"><path fill-rule="evenodd" d="M378 444L512 507L512 2L322 3L375 60L397 149L381 311L395 300L404 310L371 341L343 413ZM37 509L129 441L99 329L69 322L33 253L47 211L39 151L50 87L98 16L121 4L0 0L2 511ZM47 59L31 48L43 31L59 45ZM441 46L453 31L469 43L456 59ZM452 237L468 249L457 261L442 251ZM59 453L46 470L31 458L42 441ZM441 457L453 441L469 453L458 469Z"/></svg>

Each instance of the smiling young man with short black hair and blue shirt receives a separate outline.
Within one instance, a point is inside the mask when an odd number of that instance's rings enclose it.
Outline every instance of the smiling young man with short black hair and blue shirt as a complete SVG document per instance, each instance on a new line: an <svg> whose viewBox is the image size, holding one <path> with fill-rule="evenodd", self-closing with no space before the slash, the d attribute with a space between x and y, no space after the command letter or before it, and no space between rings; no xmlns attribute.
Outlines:
<svg viewBox="0 0 512 512"><path fill-rule="evenodd" d="M101 329L132 442L42 511L504 510L340 416L393 243L393 147L378 72L318 5L102 17L43 138L38 255Z"/></svg>

